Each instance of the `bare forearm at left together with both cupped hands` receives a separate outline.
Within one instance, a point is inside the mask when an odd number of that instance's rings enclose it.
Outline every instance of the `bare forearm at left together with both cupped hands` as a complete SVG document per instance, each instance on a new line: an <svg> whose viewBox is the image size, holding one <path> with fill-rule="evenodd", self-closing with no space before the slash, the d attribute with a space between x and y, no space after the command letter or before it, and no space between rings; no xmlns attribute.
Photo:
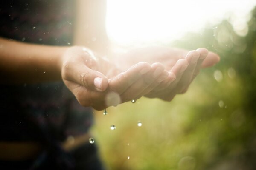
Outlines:
<svg viewBox="0 0 256 170"><path fill-rule="evenodd" d="M84 47L51 47L5 39L0 39L0 43L0 74L5 77L2 84L62 79L81 105L96 110L142 96L171 101L176 94L186 91L201 64L211 66L219 60L216 54L207 55L206 49L186 55L185 50L157 47L124 54L122 65L118 60L95 58ZM192 64L194 56L196 61ZM117 103L106 102L110 92L120 98Z"/></svg>

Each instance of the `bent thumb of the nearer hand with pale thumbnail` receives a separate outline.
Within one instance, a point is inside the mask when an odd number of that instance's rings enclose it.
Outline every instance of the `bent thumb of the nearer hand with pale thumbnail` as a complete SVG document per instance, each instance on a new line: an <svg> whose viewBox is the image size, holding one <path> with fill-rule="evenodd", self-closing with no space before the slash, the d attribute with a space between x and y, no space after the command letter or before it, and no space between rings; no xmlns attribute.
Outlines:
<svg viewBox="0 0 256 170"><path fill-rule="evenodd" d="M64 68L61 74L64 80L76 82L90 90L105 91L108 87L108 79L104 74L94 71L84 64L76 65L73 68Z"/></svg>

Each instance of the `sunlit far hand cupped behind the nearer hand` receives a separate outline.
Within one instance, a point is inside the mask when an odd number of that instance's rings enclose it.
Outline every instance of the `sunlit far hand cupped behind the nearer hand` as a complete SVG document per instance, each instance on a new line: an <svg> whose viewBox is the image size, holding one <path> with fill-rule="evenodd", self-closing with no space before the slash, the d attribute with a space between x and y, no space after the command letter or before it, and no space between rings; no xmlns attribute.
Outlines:
<svg viewBox="0 0 256 170"><path fill-rule="evenodd" d="M124 54L122 58L125 61L123 64L126 65L137 62L137 60L148 63L161 62L169 72L168 78L161 83L153 83L142 93L147 97L158 97L166 101L171 101L176 94L186 92L201 67L209 67L219 61L217 54L208 53L205 48L199 48L189 53L177 48L138 48Z"/></svg>

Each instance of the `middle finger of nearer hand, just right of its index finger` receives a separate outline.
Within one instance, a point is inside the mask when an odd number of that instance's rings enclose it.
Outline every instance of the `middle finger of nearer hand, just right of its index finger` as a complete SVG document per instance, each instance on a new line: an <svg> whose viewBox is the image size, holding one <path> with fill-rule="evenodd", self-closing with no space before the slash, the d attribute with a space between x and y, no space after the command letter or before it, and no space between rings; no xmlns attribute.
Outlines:
<svg viewBox="0 0 256 170"><path fill-rule="evenodd" d="M158 83L158 79L162 79L160 77L164 71L164 66L161 63L152 64L150 71L143 75L141 79L134 82L123 94L121 94L122 101L126 102L132 99L139 99L143 96L143 91L145 91L145 89L147 89L152 83ZM167 71L165 72L167 77Z"/></svg>

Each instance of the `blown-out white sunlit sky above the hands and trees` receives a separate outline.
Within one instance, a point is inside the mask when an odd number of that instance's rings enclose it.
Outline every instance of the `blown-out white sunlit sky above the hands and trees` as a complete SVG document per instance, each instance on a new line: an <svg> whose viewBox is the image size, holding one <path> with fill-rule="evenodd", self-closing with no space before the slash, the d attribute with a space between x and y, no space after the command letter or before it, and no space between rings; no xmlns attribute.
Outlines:
<svg viewBox="0 0 256 170"><path fill-rule="evenodd" d="M106 28L118 45L165 43L224 18L246 29L255 5L255 0L108 0Z"/></svg>

